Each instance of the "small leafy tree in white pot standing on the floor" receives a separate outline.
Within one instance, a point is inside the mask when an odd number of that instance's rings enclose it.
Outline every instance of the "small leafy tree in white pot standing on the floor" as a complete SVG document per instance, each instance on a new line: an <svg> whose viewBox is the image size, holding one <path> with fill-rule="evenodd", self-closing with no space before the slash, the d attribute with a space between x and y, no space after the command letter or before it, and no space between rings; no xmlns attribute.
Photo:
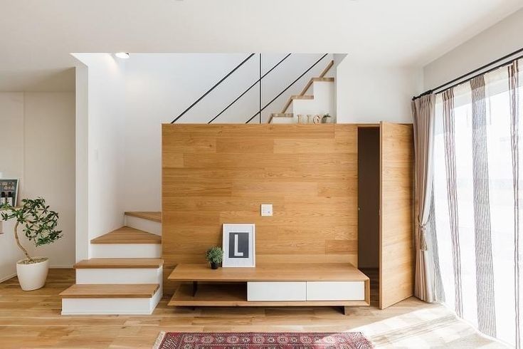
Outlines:
<svg viewBox="0 0 523 349"><path fill-rule="evenodd" d="M26 255L25 259L16 262L16 274L23 291L32 291L42 288L46 284L49 271L47 257L33 257L23 247L19 239L19 227L26 238L38 246L51 244L62 237L62 231L56 230L58 213L51 211L46 205L46 200L23 199L21 207L12 207L9 204L0 206L1 219L7 221L14 219L14 238L16 245Z"/></svg>

